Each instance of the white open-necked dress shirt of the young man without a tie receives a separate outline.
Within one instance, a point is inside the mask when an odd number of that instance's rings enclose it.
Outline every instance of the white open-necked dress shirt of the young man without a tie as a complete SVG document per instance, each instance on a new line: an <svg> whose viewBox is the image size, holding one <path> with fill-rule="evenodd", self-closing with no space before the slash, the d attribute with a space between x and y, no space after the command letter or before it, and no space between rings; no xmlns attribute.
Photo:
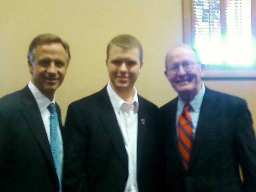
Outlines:
<svg viewBox="0 0 256 192"><path fill-rule="evenodd" d="M124 192L138 192L137 186L137 130L138 130L138 95L134 88L132 104L125 102L110 86L107 86L108 96L114 108L126 152L128 154L128 180Z"/></svg>

